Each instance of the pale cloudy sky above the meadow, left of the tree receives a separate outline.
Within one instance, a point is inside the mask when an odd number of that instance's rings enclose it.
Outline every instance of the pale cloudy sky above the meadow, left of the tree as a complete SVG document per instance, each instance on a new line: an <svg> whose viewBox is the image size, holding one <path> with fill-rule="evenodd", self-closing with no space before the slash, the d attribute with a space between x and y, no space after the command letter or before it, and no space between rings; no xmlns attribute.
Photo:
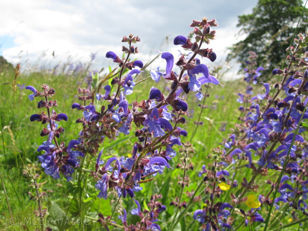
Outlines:
<svg viewBox="0 0 308 231"><path fill-rule="evenodd" d="M0 55L29 67L88 62L93 52L97 53L93 68L99 69L110 64L106 52L120 56L122 37L133 33L141 38L135 57L147 62L158 51L178 55L180 47L172 44L173 38L187 35L192 19L208 17L219 24L209 48L217 54L216 65L223 65L226 47L239 39L237 16L251 13L256 4L257 0L2 1Z"/></svg>

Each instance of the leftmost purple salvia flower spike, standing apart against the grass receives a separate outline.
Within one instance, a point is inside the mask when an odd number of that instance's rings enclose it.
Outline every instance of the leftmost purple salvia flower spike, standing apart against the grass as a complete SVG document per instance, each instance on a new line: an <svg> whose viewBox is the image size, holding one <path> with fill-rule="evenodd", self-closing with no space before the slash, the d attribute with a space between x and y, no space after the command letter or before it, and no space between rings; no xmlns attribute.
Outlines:
<svg viewBox="0 0 308 231"><path fill-rule="evenodd" d="M70 181L75 168L79 167L80 157L84 157L83 152L75 149L80 144L77 140L71 140L66 147L64 142L59 144L56 139L60 138L60 133L64 132L64 128L59 127L56 121L67 121L67 115L64 113L57 114L55 111L50 112L51 107L57 106L56 101L48 101L48 97L54 95L53 88L49 88L48 85L43 84L43 92L37 91L33 86L27 86L27 90L31 90L33 94L29 95L30 101L34 100L34 97L42 97L45 100L41 100L37 103L37 108L46 108L47 114L42 112L41 114L33 114L30 117L30 121L47 123L47 128L43 128L41 136L48 136L47 141L38 146L37 151L44 151L41 156L38 156L38 160L41 162L42 167L47 175L54 179L59 179L60 174Z"/></svg>

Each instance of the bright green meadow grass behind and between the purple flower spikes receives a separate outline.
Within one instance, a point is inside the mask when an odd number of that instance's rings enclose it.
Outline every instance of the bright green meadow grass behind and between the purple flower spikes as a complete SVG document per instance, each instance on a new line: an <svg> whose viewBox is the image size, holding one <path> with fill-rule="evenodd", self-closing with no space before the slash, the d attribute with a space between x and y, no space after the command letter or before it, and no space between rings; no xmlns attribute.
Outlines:
<svg viewBox="0 0 308 231"><path fill-rule="evenodd" d="M78 190L78 186L74 183L76 179L70 182L66 182L63 179L54 180L44 174L43 168L37 161L38 153L36 152L36 148L42 144L42 142L46 141L46 137L40 137L39 135L43 128L42 124L36 122L31 123L29 121L31 114L40 113L42 111L42 109L36 108L36 103L38 102L37 98L29 102L29 91L25 89L20 90L17 88L14 94L12 89L12 82L14 79L13 71L3 70L1 75L0 115L2 138L0 139L0 145L2 147L2 152L0 155L0 171L3 177L3 187L0 189L0 192L3 195L0 197L0 228L7 227L6 221L10 216L20 218L22 221L24 218L34 219L33 210L37 209L37 203L30 200L28 195L28 191L30 190L28 186L29 182L22 176L22 170L27 164L36 166L36 172L40 175L39 181L41 183L44 182L44 189L47 191L48 197L44 200L43 207L48 207L49 217L74 218L80 216L79 208L81 202L78 201L78 197L76 197ZM139 75L138 80L146 77L146 75ZM188 109L189 116L186 118L187 123L180 126L188 132L188 136L182 138L181 141L190 141L194 145L196 153L191 160L194 165L194 170L189 175L190 184L184 189L184 192L197 188L199 182L202 181L202 178L198 177L198 172L203 164L207 165L207 163L210 162L208 159L210 149L220 146L223 139L228 137L231 129L234 128L235 124L238 122L238 117L240 115L238 107L240 105L236 102L238 98L237 93L241 89L244 89L245 86L242 81L221 82L225 87L219 85L209 86L209 97L205 99L205 107L201 117L200 112L203 101L197 101L193 94L190 94L187 99L189 105L193 106L190 106ZM69 118L67 122L61 123L61 126L65 128L65 133L61 134L60 140L68 143L70 140L78 137L78 133L82 127L81 124L76 124L75 121L81 117L82 114L80 111L72 110L71 105L74 102L78 102L78 87L85 87L83 75L52 75L42 71L30 73L29 75L21 74L17 78L17 83L25 84L25 86L32 85L37 89L39 89L42 83L53 87L56 91L54 99L56 99L59 104L56 111L58 113L66 113ZM148 90L142 89L149 89L151 86L156 85L157 84L151 79L140 83L140 86L138 89L136 88L134 92L134 99L139 102L142 99L147 99L149 92ZM159 83L159 85L161 89L163 89L163 83ZM165 91L167 92L167 89ZM128 96L128 101L131 102L129 98L130 96ZM199 117L202 125L198 125L194 138L190 139L197 126L194 122L197 122ZM130 134L130 139L118 144L114 148L104 150L104 157L102 159L108 159L110 155L127 157L131 152L130 147L137 141L137 138L133 135L134 134ZM120 137L122 137L122 134L120 134ZM110 143L110 140L106 139L104 145L108 143ZM92 162L94 161L95 158L92 158ZM172 159L171 166L175 168L178 162L179 157ZM233 166L230 165L230 167ZM249 174L251 174L251 169L241 166L237 167L239 167L239 170L235 179L242 179L243 177L248 178ZM169 203L170 199L175 200L176 197L179 197L180 186L178 185L178 178L180 175L182 175L180 169L165 169L163 175L157 176L155 180L144 186L144 190L137 193L141 205L146 207L146 202L149 201L150 196L155 193L162 193L162 195L164 195L162 199L163 204ZM83 204L86 206L82 208L84 209L85 217L93 221L97 220L98 213L104 214L104 216L111 215L111 211L116 202L115 199L117 198L114 192L113 197L108 197L107 200L97 198L98 190L94 187L95 183L96 182L94 182L92 178L82 182L82 184L87 184L88 188L87 194L84 195L83 199ZM6 189L7 197L4 195L4 188ZM184 196L182 198L182 201L183 200L187 201L189 198ZM110 204L112 205L111 207ZM124 200L123 204L131 208L135 206L132 200ZM12 215L9 213L8 205L10 205ZM197 203L193 206L195 209L200 209L203 205ZM176 207L168 206L161 220L172 220L171 218L175 213L175 209ZM132 218L131 216L132 215L128 214L128 219L138 219ZM189 219L189 221L191 222L191 219ZM187 223L186 217L184 216L175 229L194 230L194 228L198 228L197 223L197 221ZM97 228L100 227L99 224L95 226L97 226ZM161 224L162 228L166 228L167 226L167 223ZM50 225L50 227L56 228L52 225ZM33 226L29 225L25 225L23 228L29 230L34 229ZM63 226L62 228L68 227ZM70 229L78 230L78 227L70 227Z"/></svg>

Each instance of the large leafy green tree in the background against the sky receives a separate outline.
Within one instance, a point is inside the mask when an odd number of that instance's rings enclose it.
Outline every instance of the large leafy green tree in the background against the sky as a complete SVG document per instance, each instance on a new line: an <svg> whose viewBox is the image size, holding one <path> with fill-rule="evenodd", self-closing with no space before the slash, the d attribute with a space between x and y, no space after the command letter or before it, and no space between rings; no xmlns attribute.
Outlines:
<svg viewBox="0 0 308 231"><path fill-rule="evenodd" d="M259 0L253 13L239 16L237 26L247 36L229 48L227 59L236 58L244 67L248 51L254 51L267 73L280 67L302 12L297 34L305 33L308 26L308 9L301 0Z"/></svg>

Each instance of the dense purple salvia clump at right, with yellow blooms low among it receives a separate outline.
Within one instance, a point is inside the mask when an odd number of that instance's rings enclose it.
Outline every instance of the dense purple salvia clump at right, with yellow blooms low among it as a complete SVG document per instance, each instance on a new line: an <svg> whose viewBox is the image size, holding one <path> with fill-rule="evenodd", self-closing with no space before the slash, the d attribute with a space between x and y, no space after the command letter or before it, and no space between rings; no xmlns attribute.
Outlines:
<svg viewBox="0 0 308 231"><path fill-rule="evenodd" d="M229 211L223 212L219 202L214 203L214 198L220 197L224 191L237 187L237 183L234 185L236 182L234 179L232 181L226 179L229 174L222 169L243 162L247 168L253 170L252 178L249 181L243 178L240 191L236 195L233 193L230 195L233 204L228 205L229 208L236 207L241 211L246 226L249 222L265 222L267 226L273 205L276 209L281 209L282 206L283 209L289 207L297 209L297 214L307 216L308 149L303 134L305 128L301 126L301 121L308 119L308 113L305 112L308 102L306 97L308 64L304 59L305 54L301 56L302 53L299 51L301 46L307 45L304 42L306 40L304 35L299 35L296 47L292 47L290 55L287 56L290 63L288 68L273 70L274 75L282 75L280 84L276 83L271 88L270 84L262 83L264 93L256 96L252 95L251 86L247 86L245 94L238 94L237 101L243 105L240 107L240 120L243 124L238 125L240 129L235 129L235 132L224 141L222 156L217 162L215 161L215 167L208 170L210 167L203 165L199 172L199 176L206 175L204 181L214 180L214 183L211 183L213 190L210 200L206 202L207 206L196 210L194 214L194 219L203 223L204 230L218 227L232 228L232 220L228 219ZM260 71L263 70L262 67L254 70L255 57L256 54L251 52L250 60L246 62L248 68L245 68L244 79L254 84L257 83ZM284 95L279 94L280 92ZM254 194L246 195L248 191L258 191L257 176L266 177L269 172L273 174L275 171L278 171L279 175L276 182L272 182L272 179L265 180L271 185L268 192L265 192L265 189L260 190L258 198ZM220 180L222 183L218 184ZM242 202L251 209L245 212ZM258 210L266 205L269 206L269 211L265 219ZM214 213L213 216L213 209L219 211L219 215ZM225 223L220 221L219 216L222 214Z"/></svg>

